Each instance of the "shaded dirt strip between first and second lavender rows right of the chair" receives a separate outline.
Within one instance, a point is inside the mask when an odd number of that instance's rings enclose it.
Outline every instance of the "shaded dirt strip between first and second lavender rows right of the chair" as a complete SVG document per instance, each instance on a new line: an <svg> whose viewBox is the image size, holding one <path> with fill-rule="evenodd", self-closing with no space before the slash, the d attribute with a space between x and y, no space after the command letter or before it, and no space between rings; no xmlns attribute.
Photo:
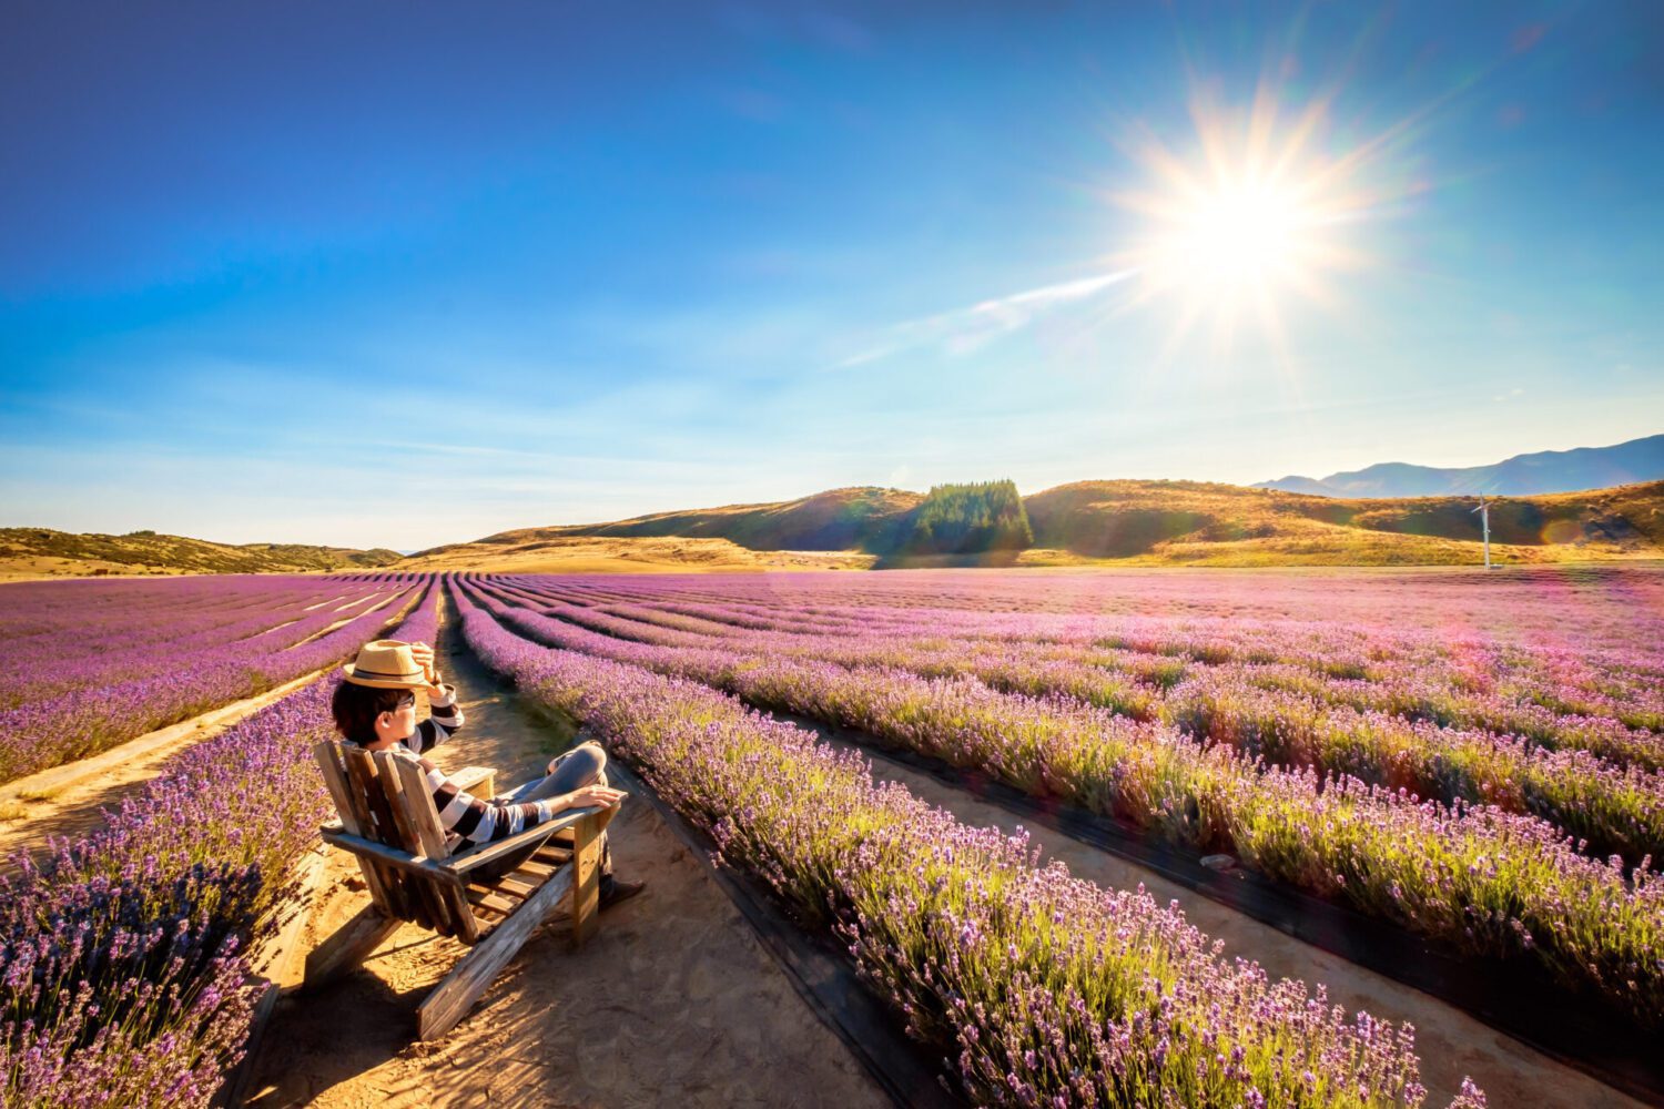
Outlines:
<svg viewBox="0 0 1664 1109"><path fill-rule="evenodd" d="M804 725L804 722L795 723ZM850 747L839 740L832 742ZM875 780L900 781L917 796L947 808L967 825L998 825L1005 831L1013 831L1018 825L1027 826L1042 845L1042 856L1063 860L1070 873L1078 878L1118 890L1133 890L1143 883L1158 903L1178 901L1191 924L1213 939L1225 941L1225 958L1255 959L1273 981L1300 978L1310 984L1323 983L1330 988L1330 1001L1345 1006L1348 1013L1368 1009L1371 1016L1393 1023L1409 1021L1416 1028L1416 1054L1421 1056L1421 1081L1429 1091L1428 1106L1448 1104L1459 1091L1463 1076L1473 1077L1493 1106L1533 1106L1533 1109L1642 1106L1419 989L1305 944L1137 863L1070 840L1060 831L1033 828L1032 821L1025 825L1025 818L945 785L922 770L875 758L870 750L862 753L872 758Z"/></svg>

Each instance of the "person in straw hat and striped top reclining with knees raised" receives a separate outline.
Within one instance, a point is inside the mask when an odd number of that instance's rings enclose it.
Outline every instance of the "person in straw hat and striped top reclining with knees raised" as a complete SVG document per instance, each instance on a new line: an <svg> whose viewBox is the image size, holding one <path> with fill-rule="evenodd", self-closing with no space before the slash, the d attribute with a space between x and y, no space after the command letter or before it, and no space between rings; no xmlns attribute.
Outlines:
<svg viewBox="0 0 1664 1109"><path fill-rule="evenodd" d="M416 722L416 690L428 692L428 720ZM433 647L381 638L366 643L354 662L341 667L341 683L329 702L341 738L366 752L394 752L421 766L433 791L439 823L449 833L451 850L493 843L554 820L569 808L606 808L624 793L607 785L607 755L599 743L582 743L547 765L542 778L493 800L481 800L458 788L443 770L423 758L463 727L456 687L439 680ZM454 836L454 840L451 840ZM481 876L511 873L532 856L539 845L484 863ZM636 896L642 881L612 876L612 853L601 833L601 908Z"/></svg>

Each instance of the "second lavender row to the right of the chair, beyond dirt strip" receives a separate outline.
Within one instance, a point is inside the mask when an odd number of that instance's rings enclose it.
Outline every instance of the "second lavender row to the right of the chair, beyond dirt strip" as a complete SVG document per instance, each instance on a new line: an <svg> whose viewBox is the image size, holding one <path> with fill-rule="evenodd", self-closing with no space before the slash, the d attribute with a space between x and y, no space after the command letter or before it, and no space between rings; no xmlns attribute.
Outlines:
<svg viewBox="0 0 1664 1109"><path fill-rule="evenodd" d="M659 647L539 615L489 585L464 589L541 643L855 727L1196 851L1230 851L1270 878L1463 949L1539 959L1572 986L1664 1019L1664 881L1649 865L1589 858L1541 820L1268 768L1165 725L973 678Z"/></svg>

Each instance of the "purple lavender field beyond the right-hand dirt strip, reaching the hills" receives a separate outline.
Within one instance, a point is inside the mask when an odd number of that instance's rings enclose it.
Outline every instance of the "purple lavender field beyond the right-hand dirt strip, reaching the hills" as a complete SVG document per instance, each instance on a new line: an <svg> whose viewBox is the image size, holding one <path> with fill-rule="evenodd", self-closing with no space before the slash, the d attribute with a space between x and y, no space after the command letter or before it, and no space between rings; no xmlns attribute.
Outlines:
<svg viewBox="0 0 1664 1109"><path fill-rule="evenodd" d="M534 642L992 773L1664 1019L1656 575L1211 575L1173 604L1181 580L464 590Z"/></svg>

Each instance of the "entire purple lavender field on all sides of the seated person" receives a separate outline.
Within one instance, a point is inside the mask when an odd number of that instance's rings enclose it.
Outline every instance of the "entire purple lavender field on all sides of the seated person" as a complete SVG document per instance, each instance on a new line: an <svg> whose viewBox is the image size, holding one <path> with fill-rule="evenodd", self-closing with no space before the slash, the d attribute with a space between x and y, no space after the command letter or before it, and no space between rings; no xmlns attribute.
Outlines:
<svg viewBox="0 0 1664 1109"><path fill-rule="evenodd" d="M1664 1029L1664 579L358 575L8 590L8 776L451 633L835 936L968 1101L1416 1106L1414 1029L1271 981L810 725L975 770ZM399 624L403 620L403 624ZM396 625L396 627L394 627ZM329 810L333 677L0 878L5 1104L206 1104ZM774 715L770 715L774 713ZM780 718L780 717L789 718ZM190 828L191 835L178 835ZM1468 1086L1439 1104L1484 1104Z"/></svg>

